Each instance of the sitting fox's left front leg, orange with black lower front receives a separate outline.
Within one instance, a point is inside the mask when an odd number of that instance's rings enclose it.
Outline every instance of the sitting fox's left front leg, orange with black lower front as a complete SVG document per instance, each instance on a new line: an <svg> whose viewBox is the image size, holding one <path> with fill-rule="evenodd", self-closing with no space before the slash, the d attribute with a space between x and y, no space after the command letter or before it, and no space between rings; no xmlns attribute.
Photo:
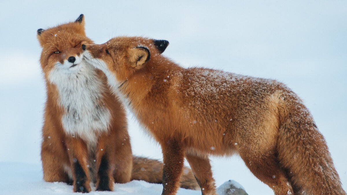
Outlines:
<svg viewBox="0 0 347 195"><path fill-rule="evenodd" d="M88 151L86 143L77 137L66 139L74 180L74 192L90 192L90 178L87 167Z"/></svg>

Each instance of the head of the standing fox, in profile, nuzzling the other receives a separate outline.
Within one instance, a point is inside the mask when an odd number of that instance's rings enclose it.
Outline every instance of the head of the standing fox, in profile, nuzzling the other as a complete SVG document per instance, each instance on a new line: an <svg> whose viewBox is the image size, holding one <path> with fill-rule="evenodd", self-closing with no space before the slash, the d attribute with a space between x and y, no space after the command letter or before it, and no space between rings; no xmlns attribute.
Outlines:
<svg viewBox="0 0 347 195"><path fill-rule="evenodd" d="M166 40L143 37L115 37L104 44L82 45L84 59L101 69L106 75L112 74L120 82L131 77L136 71L148 65L165 51Z"/></svg>

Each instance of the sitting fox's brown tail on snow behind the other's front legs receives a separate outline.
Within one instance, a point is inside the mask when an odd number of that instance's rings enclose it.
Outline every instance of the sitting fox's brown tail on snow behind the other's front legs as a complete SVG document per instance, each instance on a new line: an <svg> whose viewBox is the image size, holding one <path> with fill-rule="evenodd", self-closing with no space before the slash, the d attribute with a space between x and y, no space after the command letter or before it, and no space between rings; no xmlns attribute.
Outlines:
<svg viewBox="0 0 347 195"><path fill-rule="evenodd" d="M131 180L144 180L149 183L162 184L163 163L158 160L134 156ZM200 190L191 169L184 167L180 186L186 189Z"/></svg>

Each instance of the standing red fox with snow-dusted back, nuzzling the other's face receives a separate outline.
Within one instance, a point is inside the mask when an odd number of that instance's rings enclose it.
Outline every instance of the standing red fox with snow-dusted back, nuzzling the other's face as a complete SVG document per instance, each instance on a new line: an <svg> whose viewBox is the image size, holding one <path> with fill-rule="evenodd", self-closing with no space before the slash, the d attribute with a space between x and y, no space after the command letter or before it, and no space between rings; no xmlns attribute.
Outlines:
<svg viewBox="0 0 347 195"><path fill-rule="evenodd" d="M216 194L209 155L239 154L276 195L346 194L302 100L271 79L182 68L169 42L116 37L82 45L84 59L161 145L163 195L176 194L184 158L202 194Z"/></svg>

